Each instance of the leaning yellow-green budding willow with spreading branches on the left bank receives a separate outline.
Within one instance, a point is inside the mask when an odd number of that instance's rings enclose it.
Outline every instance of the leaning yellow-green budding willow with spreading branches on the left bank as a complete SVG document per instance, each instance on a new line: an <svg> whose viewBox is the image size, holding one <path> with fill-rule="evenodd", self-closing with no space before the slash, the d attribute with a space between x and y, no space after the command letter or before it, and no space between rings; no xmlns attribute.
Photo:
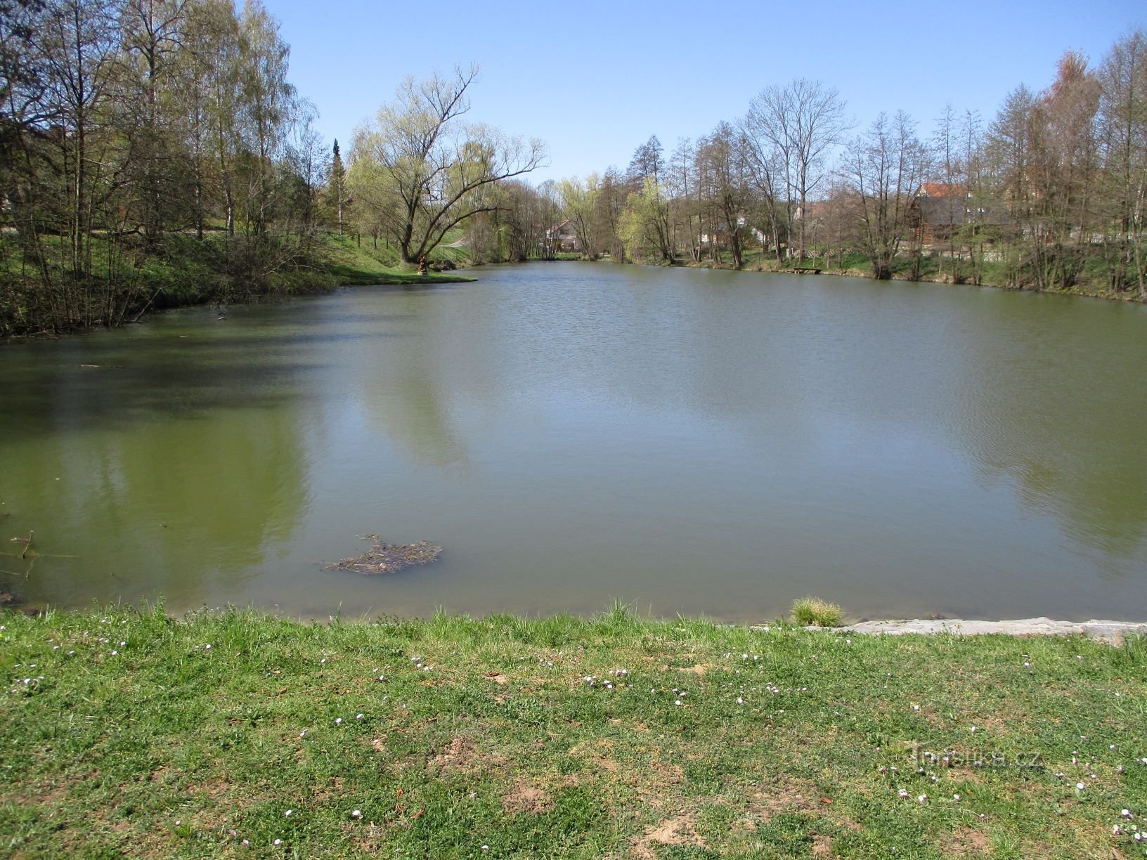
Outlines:
<svg viewBox="0 0 1147 860"><path fill-rule="evenodd" d="M398 245L404 263L432 250L450 230L497 208L489 186L541 165L540 141L463 125L466 91L477 67L416 83L407 78L393 103L354 135L349 182Z"/></svg>

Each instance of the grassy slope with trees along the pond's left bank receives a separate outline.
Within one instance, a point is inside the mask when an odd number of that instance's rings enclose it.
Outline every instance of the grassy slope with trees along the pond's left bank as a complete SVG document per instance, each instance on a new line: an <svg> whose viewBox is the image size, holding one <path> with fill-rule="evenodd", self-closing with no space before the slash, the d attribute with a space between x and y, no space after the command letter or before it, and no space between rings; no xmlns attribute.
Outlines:
<svg viewBox="0 0 1147 860"><path fill-rule="evenodd" d="M346 169L288 60L258 0L0 0L0 336L401 277L541 158L452 122L471 70L407 81Z"/></svg>

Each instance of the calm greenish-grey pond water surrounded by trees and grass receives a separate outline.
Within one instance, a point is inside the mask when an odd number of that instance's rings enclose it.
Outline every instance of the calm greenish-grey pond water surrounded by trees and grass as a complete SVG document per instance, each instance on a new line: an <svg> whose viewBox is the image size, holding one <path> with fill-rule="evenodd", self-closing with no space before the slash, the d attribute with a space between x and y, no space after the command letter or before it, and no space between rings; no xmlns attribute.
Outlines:
<svg viewBox="0 0 1147 860"><path fill-rule="evenodd" d="M853 617L1147 618L1147 308L473 274L0 346L0 591L317 618L621 600L743 621L806 594ZM321 566L367 533L444 552Z"/></svg>

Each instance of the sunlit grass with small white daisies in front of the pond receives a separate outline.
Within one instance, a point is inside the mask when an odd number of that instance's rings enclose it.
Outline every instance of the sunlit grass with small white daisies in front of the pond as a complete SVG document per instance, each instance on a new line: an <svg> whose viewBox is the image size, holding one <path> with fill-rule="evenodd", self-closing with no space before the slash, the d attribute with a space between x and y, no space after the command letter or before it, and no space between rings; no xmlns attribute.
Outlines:
<svg viewBox="0 0 1147 860"><path fill-rule="evenodd" d="M1147 845L1132 830L1142 640L624 609L0 624L0 851L16 857L1110 860ZM949 766L924 756L945 749Z"/></svg>

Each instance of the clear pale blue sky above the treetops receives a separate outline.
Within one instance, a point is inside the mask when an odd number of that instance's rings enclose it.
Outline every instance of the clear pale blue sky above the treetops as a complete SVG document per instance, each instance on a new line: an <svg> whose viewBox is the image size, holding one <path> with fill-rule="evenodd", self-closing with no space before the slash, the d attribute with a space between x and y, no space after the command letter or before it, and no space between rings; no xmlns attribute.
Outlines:
<svg viewBox="0 0 1147 860"><path fill-rule="evenodd" d="M265 2L344 151L405 76L476 62L470 116L546 141L535 181L624 167L650 134L670 150L798 77L840 91L858 128L904 109L928 132L946 102L988 123L1020 83L1046 87L1066 49L1098 64L1147 28L1144 0Z"/></svg>

